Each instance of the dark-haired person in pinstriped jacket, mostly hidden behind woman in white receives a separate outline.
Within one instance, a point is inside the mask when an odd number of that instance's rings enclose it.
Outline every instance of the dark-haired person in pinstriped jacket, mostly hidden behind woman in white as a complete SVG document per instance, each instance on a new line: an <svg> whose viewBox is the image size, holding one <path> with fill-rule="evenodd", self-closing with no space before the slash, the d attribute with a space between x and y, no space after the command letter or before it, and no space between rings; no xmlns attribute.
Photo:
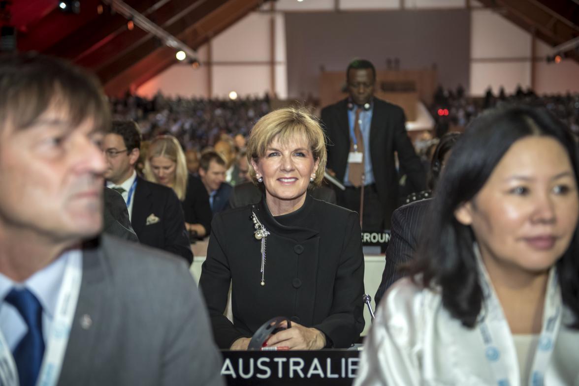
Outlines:
<svg viewBox="0 0 579 386"><path fill-rule="evenodd" d="M409 196L419 201L412 201L394 210L390 228L390 242L386 248L386 265L382 273L382 281L376 291L375 304L378 307L380 299L390 288L390 285L405 275L403 266L412 261L422 239L423 224L428 219L428 208L432 202L432 192L438 181L452 147L459 139L460 133L450 132L442 136L433 153L430 162L428 185L430 194L420 192ZM428 197L428 198L426 198Z"/></svg>

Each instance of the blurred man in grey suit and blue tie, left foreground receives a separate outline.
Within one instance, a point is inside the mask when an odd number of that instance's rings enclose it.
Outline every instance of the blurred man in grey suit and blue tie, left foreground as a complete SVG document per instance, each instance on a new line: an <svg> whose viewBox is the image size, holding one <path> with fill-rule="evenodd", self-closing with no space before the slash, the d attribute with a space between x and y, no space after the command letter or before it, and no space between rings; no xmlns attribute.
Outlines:
<svg viewBox="0 0 579 386"><path fill-rule="evenodd" d="M0 95L0 383L224 386L184 262L101 234L96 77L2 55Z"/></svg>

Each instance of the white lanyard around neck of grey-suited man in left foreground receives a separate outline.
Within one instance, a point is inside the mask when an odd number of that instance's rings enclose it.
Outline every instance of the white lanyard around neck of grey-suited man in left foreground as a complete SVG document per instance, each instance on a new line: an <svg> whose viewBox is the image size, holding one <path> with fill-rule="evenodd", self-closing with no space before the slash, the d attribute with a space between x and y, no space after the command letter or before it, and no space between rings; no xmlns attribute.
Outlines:
<svg viewBox="0 0 579 386"><path fill-rule="evenodd" d="M82 257L79 259L69 258L64 270L60 292L58 292L54 320L46 339L46 350L38 381L36 381L37 386L54 386L58 382L76 311L81 281ZM19 386L16 363L2 332L0 332L0 382L2 386Z"/></svg>

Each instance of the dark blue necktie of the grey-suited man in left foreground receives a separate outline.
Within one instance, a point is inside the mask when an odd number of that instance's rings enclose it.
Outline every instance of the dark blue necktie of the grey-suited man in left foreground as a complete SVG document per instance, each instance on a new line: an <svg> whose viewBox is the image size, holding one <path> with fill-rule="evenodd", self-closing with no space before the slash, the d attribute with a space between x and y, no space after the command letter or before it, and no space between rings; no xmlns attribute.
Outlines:
<svg viewBox="0 0 579 386"><path fill-rule="evenodd" d="M42 306L36 296L25 288L12 289L6 296L6 302L19 311L28 326L28 332L16 346L13 355L20 386L34 386L44 356Z"/></svg>

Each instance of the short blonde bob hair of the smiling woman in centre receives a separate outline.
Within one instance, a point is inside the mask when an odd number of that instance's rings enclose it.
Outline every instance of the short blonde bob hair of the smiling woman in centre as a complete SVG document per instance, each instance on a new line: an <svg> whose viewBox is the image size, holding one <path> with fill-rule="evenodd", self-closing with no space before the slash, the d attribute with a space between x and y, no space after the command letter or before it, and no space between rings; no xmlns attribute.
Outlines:
<svg viewBox="0 0 579 386"><path fill-rule="evenodd" d="M307 110L293 107L270 112L261 117L251 129L250 137L247 140L247 161L250 164L250 176L254 184L257 184L258 181L251 160L258 164L259 158L265 155L267 147L272 144L274 139L287 144L296 138L305 138L312 151L314 161L319 160L316 178L310 186L320 186L324 179L324 170L328 159L324 131L317 118Z"/></svg>

